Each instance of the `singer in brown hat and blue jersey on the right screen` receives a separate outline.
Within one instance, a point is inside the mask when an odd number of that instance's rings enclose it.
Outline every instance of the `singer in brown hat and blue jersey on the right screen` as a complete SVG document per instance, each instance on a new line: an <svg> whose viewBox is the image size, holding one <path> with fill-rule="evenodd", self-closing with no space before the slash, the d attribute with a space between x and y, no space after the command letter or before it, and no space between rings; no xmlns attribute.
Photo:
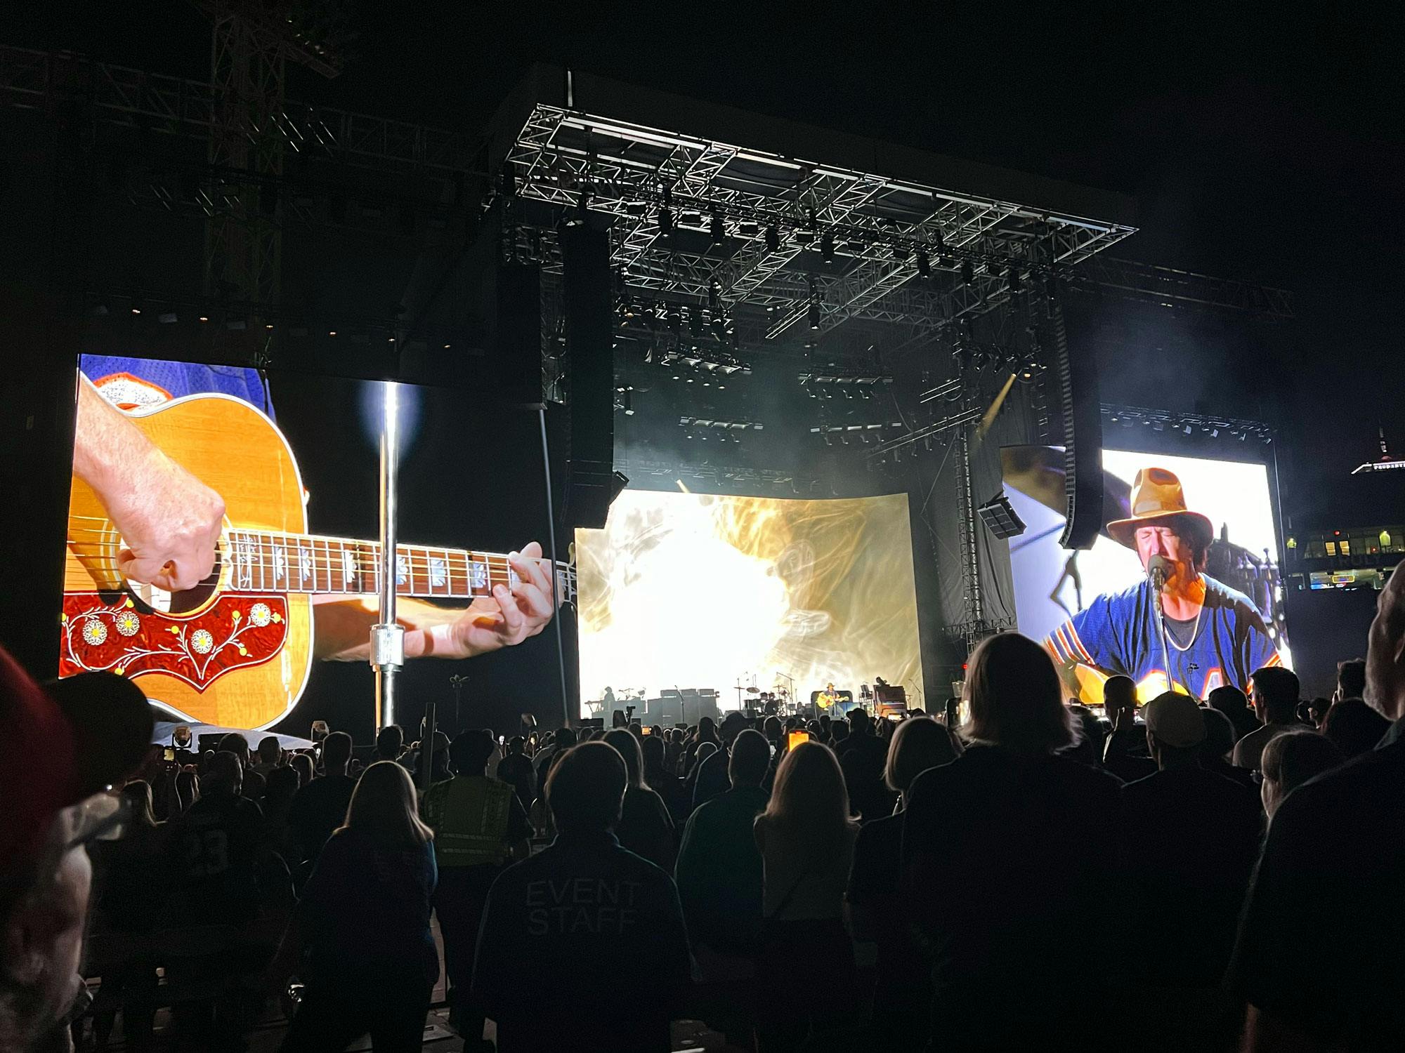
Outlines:
<svg viewBox="0 0 1405 1053"><path fill-rule="evenodd" d="M1249 597L1204 574L1210 519L1187 511L1180 479L1163 468L1137 473L1131 512L1107 524L1107 534L1137 549L1146 577L1097 597L1048 635L1059 675L1094 705L1114 674L1137 681L1141 698L1168 687L1201 699L1225 684L1248 692L1255 670L1280 664L1279 651Z"/></svg>

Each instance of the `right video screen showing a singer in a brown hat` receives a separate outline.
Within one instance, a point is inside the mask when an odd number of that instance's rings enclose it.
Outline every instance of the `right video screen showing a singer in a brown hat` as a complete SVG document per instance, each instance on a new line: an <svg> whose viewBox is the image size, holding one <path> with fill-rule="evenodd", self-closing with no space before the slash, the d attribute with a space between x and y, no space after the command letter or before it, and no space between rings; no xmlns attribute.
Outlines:
<svg viewBox="0 0 1405 1053"><path fill-rule="evenodd" d="M1075 552L1058 543L1062 451L1002 451L1026 525L1009 542L1019 628L1044 642L1069 696L1100 705L1121 674L1142 702L1168 685L1203 699L1291 664L1267 468L1120 449L1102 466L1103 528Z"/></svg>

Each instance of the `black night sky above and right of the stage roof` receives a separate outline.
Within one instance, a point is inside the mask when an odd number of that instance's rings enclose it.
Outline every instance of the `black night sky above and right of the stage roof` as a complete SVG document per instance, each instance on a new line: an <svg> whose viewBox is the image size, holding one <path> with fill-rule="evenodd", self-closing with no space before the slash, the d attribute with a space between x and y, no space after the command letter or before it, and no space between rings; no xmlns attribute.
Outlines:
<svg viewBox="0 0 1405 1053"><path fill-rule="evenodd" d="M472 133L530 62L552 62L1131 194L1141 232L1117 254L1294 291L1272 354L1177 368L1208 406L1273 418L1295 504L1321 508L1374 455L1378 421L1405 452L1398 15L1166 7L362 3L346 72L296 70L289 97ZM46 18L4 35L208 76L192 4Z"/></svg>

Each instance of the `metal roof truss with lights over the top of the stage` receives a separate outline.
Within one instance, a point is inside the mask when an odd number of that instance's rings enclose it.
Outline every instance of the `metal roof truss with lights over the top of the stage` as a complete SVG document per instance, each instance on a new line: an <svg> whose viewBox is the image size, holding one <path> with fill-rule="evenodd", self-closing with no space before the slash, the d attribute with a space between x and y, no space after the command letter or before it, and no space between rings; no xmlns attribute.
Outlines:
<svg viewBox="0 0 1405 1053"><path fill-rule="evenodd" d="M516 136L502 194L610 216L628 289L762 309L766 340L856 319L920 340L1134 233L547 104ZM514 249L559 272L549 225L523 226L538 229Z"/></svg>

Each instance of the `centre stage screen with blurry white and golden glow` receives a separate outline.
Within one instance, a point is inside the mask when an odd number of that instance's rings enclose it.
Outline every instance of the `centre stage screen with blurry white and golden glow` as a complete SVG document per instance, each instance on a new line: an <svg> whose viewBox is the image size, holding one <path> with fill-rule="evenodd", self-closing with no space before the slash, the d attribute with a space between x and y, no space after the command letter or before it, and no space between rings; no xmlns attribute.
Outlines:
<svg viewBox="0 0 1405 1053"><path fill-rule="evenodd" d="M776 500L625 490L576 532L580 692L806 701L877 677L922 699L906 494ZM747 691L754 688L754 691Z"/></svg>

